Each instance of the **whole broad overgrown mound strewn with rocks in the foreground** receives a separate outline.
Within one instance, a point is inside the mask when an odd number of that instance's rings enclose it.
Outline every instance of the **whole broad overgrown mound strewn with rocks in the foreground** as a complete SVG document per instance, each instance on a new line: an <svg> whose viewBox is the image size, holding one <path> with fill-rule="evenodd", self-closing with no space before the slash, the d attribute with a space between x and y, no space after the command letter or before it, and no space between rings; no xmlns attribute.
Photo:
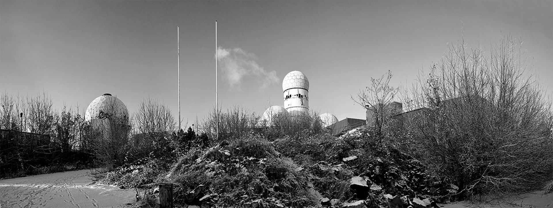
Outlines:
<svg viewBox="0 0 553 208"><path fill-rule="evenodd" d="M157 176L154 164L124 168L134 182L125 174L118 175L125 181L111 182L129 188L173 183L175 204L202 207L423 207L456 191L362 129L339 138L298 134L273 142L249 134L191 150ZM158 197L150 187L146 196Z"/></svg>

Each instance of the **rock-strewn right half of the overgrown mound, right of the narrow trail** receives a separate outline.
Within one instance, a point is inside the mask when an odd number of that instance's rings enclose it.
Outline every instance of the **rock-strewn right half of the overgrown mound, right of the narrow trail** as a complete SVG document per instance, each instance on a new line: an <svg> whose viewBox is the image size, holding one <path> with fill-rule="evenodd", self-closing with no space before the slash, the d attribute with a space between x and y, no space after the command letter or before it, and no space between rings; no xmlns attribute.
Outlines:
<svg viewBox="0 0 553 208"><path fill-rule="evenodd" d="M456 191L455 185L427 175L419 160L384 145L366 129L340 138L300 134L275 141L275 148L306 167L322 200L335 199L330 206L356 200L365 200L366 206L388 206L393 196L408 196L403 204L415 198L442 202Z"/></svg>

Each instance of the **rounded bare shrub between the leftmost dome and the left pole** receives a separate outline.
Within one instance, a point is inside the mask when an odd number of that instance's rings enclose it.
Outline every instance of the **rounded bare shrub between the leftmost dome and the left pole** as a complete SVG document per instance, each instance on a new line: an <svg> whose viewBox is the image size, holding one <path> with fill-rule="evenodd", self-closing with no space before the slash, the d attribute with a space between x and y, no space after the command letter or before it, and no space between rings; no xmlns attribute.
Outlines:
<svg viewBox="0 0 553 208"><path fill-rule="evenodd" d="M138 106L134 122L140 133L173 132L176 128L175 117L165 104L147 98Z"/></svg>

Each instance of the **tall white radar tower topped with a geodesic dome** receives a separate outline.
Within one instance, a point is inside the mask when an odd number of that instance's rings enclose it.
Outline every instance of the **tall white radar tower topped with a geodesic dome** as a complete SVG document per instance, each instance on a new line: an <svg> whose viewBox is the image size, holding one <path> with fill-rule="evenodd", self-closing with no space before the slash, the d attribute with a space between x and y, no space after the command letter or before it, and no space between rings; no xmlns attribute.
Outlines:
<svg viewBox="0 0 553 208"><path fill-rule="evenodd" d="M301 71L290 71L282 81L284 108L291 116L309 113L309 80Z"/></svg>

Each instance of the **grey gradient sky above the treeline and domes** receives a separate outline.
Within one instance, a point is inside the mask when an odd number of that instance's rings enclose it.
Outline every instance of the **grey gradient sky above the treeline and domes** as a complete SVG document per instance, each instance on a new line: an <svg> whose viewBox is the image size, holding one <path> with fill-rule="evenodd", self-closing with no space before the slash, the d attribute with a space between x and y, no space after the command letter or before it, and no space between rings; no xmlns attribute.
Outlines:
<svg viewBox="0 0 553 208"><path fill-rule="evenodd" d="M364 119L351 96L371 77L390 70L390 85L411 86L461 39L484 50L505 35L522 39L551 95L552 23L553 1L0 0L0 91L46 92L59 111L82 114L103 93L131 113L149 97L177 119L180 64L185 128L215 107L218 48L223 110L283 106L281 82L298 70L311 110Z"/></svg>

